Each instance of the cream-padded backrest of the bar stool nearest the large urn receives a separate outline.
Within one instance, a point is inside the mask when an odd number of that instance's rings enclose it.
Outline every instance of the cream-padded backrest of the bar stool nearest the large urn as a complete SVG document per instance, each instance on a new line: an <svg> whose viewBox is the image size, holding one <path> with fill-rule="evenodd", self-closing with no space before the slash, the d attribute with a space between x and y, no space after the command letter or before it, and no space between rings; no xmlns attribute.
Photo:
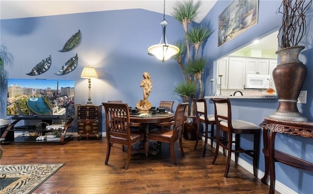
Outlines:
<svg viewBox="0 0 313 194"><path fill-rule="evenodd" d="M232 130L231 124L231 106L228 98L211 98L214 102L215 109L215 122L219 127L220 122L218 120L227 120L227 127Z"/></svg>

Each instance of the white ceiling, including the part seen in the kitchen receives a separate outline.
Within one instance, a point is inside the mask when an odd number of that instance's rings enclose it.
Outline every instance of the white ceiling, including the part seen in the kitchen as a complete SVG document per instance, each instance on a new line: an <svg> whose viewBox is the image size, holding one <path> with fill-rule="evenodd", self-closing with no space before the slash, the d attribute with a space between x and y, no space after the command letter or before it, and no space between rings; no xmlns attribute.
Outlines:
<svg viewBox="0 0 313 194"><path fill-rule="evenodd" d="M182 1L182 0L180 0ZM186 1L186 0L184 0ZM196 2L198 0L194 0ZM165 1L165 14L171 15L177 0ZM217 0L201 0L200 12L195 22L201 22ZM17 19L62 14L146 9L163 14L163 0L0 0L0 19ZM257 45L250 44L243 49L260 49L265 52L277 50L277 35L264 38Z"/></svg>

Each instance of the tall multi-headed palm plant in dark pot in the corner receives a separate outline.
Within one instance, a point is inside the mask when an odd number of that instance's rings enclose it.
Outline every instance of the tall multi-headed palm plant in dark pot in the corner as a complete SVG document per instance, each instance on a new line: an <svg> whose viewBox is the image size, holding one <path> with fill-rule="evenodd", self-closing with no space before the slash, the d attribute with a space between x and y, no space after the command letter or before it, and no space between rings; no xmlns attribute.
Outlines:
<svg viewBox="0 0 313 194"><path fill-rule="evenodd" d="M197 17L199 8L200 1L196 3L192 0L178 1L172 13L174 18L182 24L185 33L184 41L176 43L176 46L179 47L179 53L174 56L184 75L185 82L177 85L174 91L182 96L184 102L189 102L189 107L186 110L186 125L188 126L184 128L184 138L187 140L196 140L197 138L195 133L195 128L197 128L195 106L192 98L202 98L203 81L201 75L206 61L199 57L199 50L202 43L212 34L212 31L203 25L194 25L189 29L189 24Z"/></svg>

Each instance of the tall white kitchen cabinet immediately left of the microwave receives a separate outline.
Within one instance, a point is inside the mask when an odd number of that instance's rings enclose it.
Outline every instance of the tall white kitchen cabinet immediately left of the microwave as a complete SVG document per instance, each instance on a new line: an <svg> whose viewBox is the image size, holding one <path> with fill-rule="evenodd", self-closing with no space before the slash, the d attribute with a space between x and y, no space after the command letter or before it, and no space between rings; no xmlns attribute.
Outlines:
<svg viewBox="0 0 313 194"><path fill-rule="evenodd" d="M230 57L228 65L228 89L244 89L246 58Z"/></svg>

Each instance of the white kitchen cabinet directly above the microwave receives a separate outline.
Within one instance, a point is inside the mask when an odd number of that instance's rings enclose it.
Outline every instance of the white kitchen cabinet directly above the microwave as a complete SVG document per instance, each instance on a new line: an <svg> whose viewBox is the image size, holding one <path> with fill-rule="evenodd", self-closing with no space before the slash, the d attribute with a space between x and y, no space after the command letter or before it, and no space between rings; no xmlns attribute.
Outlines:
<svg viewBox="0 0 313 194"><path fill-rule="evenodd" d="M269 60L246 58L246 74L268 75Z"/></svg>

